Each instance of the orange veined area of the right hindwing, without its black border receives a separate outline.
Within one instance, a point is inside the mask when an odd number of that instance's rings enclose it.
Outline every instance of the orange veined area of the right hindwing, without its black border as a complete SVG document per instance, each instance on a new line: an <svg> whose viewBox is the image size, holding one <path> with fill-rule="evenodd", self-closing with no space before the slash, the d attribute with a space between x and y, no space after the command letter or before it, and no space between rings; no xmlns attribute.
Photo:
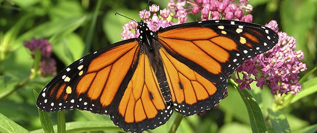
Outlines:
<svg viewBox="0 0 317 133"><path fill-rule="evenodd" d="M161 48L160 53L174 103L185 102L192 105L208 99L217 91L215 83L200 76L188 68L187 65L173 58L165 49Z"/></svg>

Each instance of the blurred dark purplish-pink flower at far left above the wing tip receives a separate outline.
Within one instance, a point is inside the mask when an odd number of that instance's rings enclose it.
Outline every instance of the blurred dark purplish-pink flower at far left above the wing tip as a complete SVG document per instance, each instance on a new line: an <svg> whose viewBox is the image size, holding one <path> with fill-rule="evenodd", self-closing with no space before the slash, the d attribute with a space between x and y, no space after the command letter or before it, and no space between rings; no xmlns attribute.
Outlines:
<svg viewBox="0 0 317 133"><path fill-rule="evenodd" d="M42 57L39 63L39 70L42 76L56 74L56 62L50 57L52 54L52 45L47 39L35 39L33 37L30 41L24 41L24 46L33 52L33 58L36 50L40 50Z"/></svg>

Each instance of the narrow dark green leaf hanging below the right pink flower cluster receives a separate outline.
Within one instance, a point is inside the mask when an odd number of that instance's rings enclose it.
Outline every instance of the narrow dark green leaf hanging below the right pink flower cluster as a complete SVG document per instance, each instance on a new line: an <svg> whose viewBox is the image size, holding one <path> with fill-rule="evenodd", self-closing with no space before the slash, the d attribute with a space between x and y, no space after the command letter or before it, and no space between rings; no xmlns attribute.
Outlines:
<svg viewBox="0 0 317 133"><path fill-rule="evenodd" d="M246 106L251 127L252 127L252 132L266 132L267 130L266 130L265 122L264 122L263 115L258 103L246 90L241 90L238 92L240 96L242 97L243 102Z"/></svg>

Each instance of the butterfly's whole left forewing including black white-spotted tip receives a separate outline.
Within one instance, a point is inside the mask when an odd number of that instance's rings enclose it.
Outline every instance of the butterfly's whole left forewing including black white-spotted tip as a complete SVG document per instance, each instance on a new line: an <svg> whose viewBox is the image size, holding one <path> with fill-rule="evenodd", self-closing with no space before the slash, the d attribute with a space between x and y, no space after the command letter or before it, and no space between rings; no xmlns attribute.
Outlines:
<svg viewBox="0 0 317 133"><path fill-rule="evenodd" d="M107 115L116 112L139 51L139 42L130 39L75 61L44 87L37 106L47 112L76 108Z"/></svg>

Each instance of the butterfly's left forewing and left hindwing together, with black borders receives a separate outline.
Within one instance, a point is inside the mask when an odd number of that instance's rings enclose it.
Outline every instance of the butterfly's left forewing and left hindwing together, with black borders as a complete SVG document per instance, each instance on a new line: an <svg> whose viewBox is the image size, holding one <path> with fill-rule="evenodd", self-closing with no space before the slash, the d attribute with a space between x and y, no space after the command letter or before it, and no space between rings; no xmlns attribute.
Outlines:
<svg viewBox="0 0 317 133"><path fill-rule="evenodd" d="M47 112L88 110L110 115L125 131L160 126L172 114L138 39L120 41L89 54L61 71L39 94Z"/></svg>

